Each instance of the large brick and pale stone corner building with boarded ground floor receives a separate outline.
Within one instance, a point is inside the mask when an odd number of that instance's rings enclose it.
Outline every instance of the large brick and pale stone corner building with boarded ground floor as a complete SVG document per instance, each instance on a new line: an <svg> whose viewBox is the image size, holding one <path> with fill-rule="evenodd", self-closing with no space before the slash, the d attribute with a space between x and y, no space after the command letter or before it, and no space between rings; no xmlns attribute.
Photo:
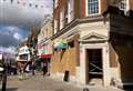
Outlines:
<svg viewBox="0 0 133 91"><path fill-rule="evenodd" d="M52 40L66 47L54 46L53 77L69 75L79 84L132 83L132 0L54 0Z"/></svg>

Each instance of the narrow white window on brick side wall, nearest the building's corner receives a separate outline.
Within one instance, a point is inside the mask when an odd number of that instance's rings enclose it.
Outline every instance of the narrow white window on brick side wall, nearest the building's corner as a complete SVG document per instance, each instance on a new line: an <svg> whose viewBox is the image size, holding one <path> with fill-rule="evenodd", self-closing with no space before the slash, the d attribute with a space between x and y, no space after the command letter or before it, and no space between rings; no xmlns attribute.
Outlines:
<svg viewBox="0 0 133 91"><path fill-rule="evenodd" d="M71 22L73 20L73 0L69 0L68 3L68 16L69 16L69 20L68 22Z"/></svg>

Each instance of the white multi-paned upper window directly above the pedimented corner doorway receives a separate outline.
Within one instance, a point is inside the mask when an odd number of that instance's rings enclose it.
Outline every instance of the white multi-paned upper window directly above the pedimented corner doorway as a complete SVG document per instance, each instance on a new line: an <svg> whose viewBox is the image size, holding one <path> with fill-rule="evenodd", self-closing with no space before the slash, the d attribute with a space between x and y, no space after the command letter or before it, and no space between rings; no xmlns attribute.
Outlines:
<svg viewBox="0 0 133 91"><path fill-rule="evenodd" d="M100 0L86 0L86 16L100 13Z"/></svg>

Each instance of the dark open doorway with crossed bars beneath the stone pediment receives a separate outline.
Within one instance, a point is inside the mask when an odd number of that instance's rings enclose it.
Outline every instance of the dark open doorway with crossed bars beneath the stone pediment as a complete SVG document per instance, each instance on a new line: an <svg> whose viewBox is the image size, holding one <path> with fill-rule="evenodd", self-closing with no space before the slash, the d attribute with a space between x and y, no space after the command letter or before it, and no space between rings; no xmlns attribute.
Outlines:
<svg viewBox="0 0 133 91"><path fill-rule="evenodd" d="M102 49L86 49L86 84L103 84Z"/></svg>

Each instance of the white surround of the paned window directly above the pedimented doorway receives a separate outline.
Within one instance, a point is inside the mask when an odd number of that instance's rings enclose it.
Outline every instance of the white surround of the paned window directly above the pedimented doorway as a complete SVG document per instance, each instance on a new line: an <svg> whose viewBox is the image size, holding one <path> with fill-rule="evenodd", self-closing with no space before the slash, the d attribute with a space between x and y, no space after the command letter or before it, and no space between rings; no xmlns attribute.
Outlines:
<svg viewBox="0 0 133 91"><path fill-rule="evenodd" d="M91 17L91 16L99 16L100 13L101 13L101 0L98 0L99 1L99 12L98 13L91 13L91 14L89 14L88 12L89 12L89 6L88 6L88 3L89 3L89 0L85 0L85 13L86 13L86 17Z"/></svg>

